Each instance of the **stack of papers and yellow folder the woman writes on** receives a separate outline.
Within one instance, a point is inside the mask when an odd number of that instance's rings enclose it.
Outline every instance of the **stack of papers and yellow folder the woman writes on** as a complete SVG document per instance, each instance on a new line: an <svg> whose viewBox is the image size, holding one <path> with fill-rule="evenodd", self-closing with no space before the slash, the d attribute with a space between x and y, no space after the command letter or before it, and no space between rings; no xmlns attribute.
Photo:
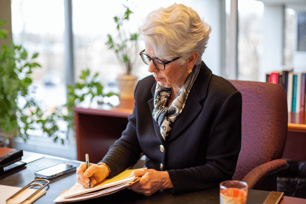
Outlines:
<svg viewBox="0 0 306 204"><path fill-rule="evenodd" d="M110 195L140 180L140 177L135 176L128 178L134 170L125 170L111 179L103 180L102 183L92 188L84 188L82 184L76 182L68 191L63 191L54 202L74 202Z"/></svg>

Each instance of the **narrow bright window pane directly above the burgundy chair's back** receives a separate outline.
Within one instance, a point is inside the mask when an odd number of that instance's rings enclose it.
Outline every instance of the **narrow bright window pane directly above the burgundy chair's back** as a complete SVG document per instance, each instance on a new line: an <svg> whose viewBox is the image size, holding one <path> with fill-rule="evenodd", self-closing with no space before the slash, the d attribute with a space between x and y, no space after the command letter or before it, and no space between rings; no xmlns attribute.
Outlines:
<svg viewBox="0 0 306 204"><path fill-rule="evenodd" d="M263 3L238 1L238 80L258 80L263 52Z"/></svg>

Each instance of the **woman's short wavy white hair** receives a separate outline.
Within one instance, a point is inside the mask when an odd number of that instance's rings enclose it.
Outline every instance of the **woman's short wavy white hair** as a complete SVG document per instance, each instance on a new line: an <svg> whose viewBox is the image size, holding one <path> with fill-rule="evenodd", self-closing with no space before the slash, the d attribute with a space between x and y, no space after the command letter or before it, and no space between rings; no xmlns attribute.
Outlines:
<svg viewBox="0 0 306 204"><path fill-rule="evenodd" d="M201 63L211 26L201 20L190 7L174 3L167 8L152 11L140 24L139 34L153 47L156 57L186 63L194 51L199 53L196 65Z"/></svg>

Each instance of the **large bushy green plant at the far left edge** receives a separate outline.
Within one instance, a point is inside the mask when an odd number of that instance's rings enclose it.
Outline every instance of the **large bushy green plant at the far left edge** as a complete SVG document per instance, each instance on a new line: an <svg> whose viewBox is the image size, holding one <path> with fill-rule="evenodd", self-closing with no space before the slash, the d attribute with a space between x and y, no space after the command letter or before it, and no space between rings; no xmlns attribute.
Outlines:
<svg viewBox="0 0 306 204"><path fill-rule="evenodd" d="M0 27L5 21L0 19ZM0 38L6 39L7 31L0 29ZM56 120L62 117L59 113L46 115L35 102L30 74L34 68L40 67L33 62L38 53L28 57L22 46L10 42L10 46L2 45L0 49L0 131L5 137L22 137L28 139L28 130L41 126L43 132L58 139L59 130ZM62 140L63 143L63 140Z"/></svg>

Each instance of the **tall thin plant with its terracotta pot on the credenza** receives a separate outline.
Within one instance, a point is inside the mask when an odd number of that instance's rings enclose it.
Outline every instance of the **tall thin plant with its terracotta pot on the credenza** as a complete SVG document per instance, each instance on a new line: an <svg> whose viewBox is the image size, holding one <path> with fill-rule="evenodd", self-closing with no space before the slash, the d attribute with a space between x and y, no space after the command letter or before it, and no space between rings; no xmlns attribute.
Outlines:
<svg viewBox="0 0 306 204"><path fill-rule="evenodd" d="M118 61L124 68L124 74L117 77L120 99L134 98L134 89L137 82L137 77L132 75L132 70L135 65L138 54L138 35L137 33L129 33L124 27L124 22L129 21L129 15L133 13L125 6L125 13L122 16L115 16L114 21L117 25L118 35L113 38L108 34L109 49L114 50Z"/></svg>

